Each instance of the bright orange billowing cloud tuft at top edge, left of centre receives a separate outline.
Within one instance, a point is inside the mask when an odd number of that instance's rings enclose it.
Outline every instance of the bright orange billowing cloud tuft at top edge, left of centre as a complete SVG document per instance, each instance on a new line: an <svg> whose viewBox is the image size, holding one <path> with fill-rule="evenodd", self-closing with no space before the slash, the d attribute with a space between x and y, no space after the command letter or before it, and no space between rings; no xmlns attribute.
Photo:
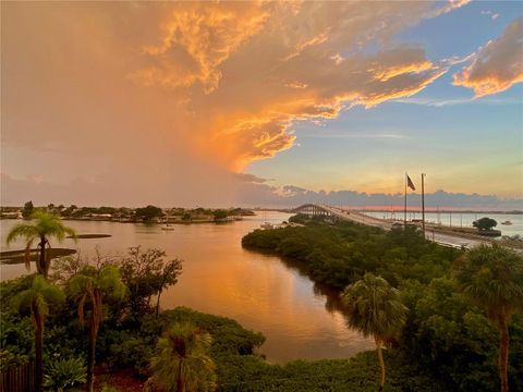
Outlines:
<svg viewBox="0 0 523 392"><path fill-rule="evenodd" d="M263 27L268 13L260 3L179 3L161 25L158 46L143 49L154 65L132 74L146 86L218 87L218 66Z"/></svg>

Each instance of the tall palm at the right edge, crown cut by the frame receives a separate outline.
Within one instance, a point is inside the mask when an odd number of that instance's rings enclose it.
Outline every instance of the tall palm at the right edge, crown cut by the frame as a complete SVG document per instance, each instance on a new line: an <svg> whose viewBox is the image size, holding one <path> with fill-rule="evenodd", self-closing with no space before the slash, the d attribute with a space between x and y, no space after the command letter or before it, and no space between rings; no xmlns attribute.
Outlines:
<svg viewBox="0 0 523 392"><path fill-rule="evenodd" d="M465 253L453 266L460 290L487 313L499 331L499 379L501 391L509 390L509 323L523 309L523 257L497 244L479 245Z"/></svg>

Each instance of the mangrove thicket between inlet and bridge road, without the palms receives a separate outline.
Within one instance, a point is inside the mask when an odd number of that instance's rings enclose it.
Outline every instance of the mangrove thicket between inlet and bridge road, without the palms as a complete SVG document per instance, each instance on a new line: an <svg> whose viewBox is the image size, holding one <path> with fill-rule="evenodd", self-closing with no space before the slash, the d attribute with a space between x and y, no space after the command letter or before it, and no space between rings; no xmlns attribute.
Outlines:
<svg viewBox="0 0 523 392"><path fill-rule="evenodd" d="M299 217L300 218L300 217ZM409 308L399 350L449 391L497 391L497 331L451 279L463 252L439 246L414 230L384 232L350 222L301 219L305 226L257 230L243 237L252 249L290 257L316 282L343 290L364 272L384 277ZM520 261L521 262L521 261ZM523 391L523 319L509 326L509 384Z"/></svg>

